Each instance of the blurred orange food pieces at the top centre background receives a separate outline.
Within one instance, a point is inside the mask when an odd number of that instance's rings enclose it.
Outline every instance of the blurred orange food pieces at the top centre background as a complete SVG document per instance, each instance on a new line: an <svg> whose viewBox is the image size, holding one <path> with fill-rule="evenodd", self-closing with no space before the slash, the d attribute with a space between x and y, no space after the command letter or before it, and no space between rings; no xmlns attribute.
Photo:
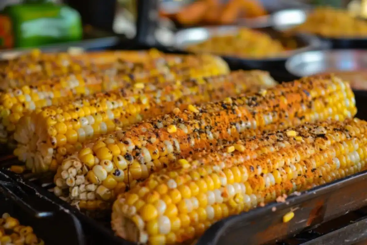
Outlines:
<svg viewBox="0 0 367 245"><path fill-rule="evenodd" d="M267 12L258 0L197 0L186 4L177 12L161 9L167 17L184 26L235 24L239 18L255 18Z"/></svg>

